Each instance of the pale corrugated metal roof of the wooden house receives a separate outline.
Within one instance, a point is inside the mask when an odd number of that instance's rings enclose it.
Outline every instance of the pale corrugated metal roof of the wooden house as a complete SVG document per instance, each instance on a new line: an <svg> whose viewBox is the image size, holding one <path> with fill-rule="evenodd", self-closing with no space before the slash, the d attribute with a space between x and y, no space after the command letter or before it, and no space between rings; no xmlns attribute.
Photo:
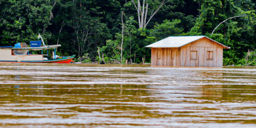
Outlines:
<svg viewBox="0 0 256 128"><path fill-rule="evenodd" d="M212 40L204 35L200 36L180 36L180 37L168 37L163 40L157 41L151 45L147 45L146 47L181 47L188 43L191 43L193 41L199 40L201 38L207 38L209 40ZM215 40L212 40L220 45L222 45L224 48L229 48Z"/></svg>

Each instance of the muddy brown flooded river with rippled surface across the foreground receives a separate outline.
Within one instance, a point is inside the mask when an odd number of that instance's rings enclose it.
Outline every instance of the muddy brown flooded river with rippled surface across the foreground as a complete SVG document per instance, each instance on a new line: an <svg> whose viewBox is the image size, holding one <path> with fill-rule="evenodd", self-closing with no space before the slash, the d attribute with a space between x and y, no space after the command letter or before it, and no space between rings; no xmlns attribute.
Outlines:
<svg viewBox="0 0 256 128"><path fill-rule="evenodd" d="M255 128L256 68L0 63L0 127Z"/></svg>

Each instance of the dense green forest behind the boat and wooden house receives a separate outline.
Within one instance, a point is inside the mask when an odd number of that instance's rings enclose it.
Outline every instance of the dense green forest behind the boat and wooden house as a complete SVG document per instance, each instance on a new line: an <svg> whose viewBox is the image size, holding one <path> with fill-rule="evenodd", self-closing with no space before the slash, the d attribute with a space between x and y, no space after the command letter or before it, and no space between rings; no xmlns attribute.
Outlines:
<svg viewBox="0 0 256 128"><path fill-rule="evenodd" d="M100 52L106 62L140 63L151 60L146 45L169 36L206 35L231 47L224 49L224 65L254 66L255 4L255 0L0 0L0 46L29 44L38 40L39 32L47 45L61 44L59 56L94 62Z"/></svg>

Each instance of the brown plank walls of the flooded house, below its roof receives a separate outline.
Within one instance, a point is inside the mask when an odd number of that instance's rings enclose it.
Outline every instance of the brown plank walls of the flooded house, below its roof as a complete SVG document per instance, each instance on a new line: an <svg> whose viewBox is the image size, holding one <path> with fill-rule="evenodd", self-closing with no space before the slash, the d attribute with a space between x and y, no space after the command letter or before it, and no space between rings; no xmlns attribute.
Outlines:
<svg viewBox="0 0 256 128"><path fill-rule="evenodd" d="M151 48L152 66L223 66L223 46L201 38L182 47Z"/></svg>

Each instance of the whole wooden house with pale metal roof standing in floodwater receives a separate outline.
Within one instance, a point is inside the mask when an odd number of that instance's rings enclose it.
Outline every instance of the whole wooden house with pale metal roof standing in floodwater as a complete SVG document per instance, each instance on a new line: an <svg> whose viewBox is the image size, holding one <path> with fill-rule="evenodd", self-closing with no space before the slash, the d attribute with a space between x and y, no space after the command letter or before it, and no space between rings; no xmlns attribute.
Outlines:
<svg viewBox="0 0 256 128"><path fill-rule="evenodd" d="M152 66L223 66L223 48L227 47L206 36L168 37L151 47Z"/></svg>

